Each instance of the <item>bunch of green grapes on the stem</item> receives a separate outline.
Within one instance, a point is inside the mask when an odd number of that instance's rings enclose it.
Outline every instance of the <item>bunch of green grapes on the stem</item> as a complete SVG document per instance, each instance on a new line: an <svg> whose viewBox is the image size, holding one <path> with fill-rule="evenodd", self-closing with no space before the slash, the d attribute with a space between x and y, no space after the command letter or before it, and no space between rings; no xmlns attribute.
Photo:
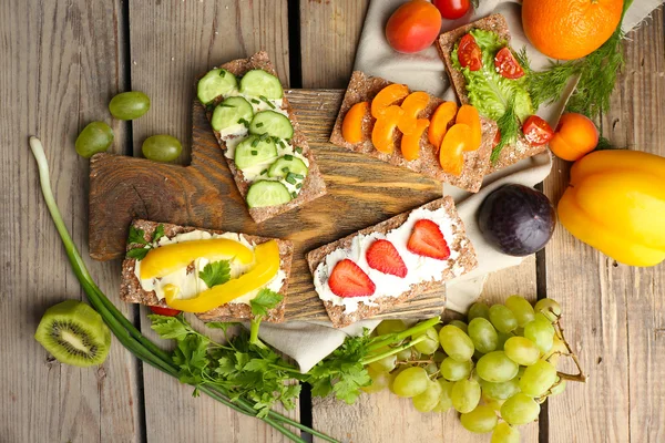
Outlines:
<svg viewBox="0 0 665 443"><path fill-rule="evenodd" d="M562 393L566 380L586 380L560 321L561 306L552 299L535 306L520 296L503 305L473 303L467 321L423 324L410 337L412 346L405 349L397 342L377 349L377 356L388 357L370 358L372 382L362 390L387 388L411 399L420 412L453 409L468 431L492 433L492 443L516 443L518 426L536 421L541 404ZM407 329L401 320L385 320L376 333ZM571 358L579 373L557 371L561 357Z"/></svg>

